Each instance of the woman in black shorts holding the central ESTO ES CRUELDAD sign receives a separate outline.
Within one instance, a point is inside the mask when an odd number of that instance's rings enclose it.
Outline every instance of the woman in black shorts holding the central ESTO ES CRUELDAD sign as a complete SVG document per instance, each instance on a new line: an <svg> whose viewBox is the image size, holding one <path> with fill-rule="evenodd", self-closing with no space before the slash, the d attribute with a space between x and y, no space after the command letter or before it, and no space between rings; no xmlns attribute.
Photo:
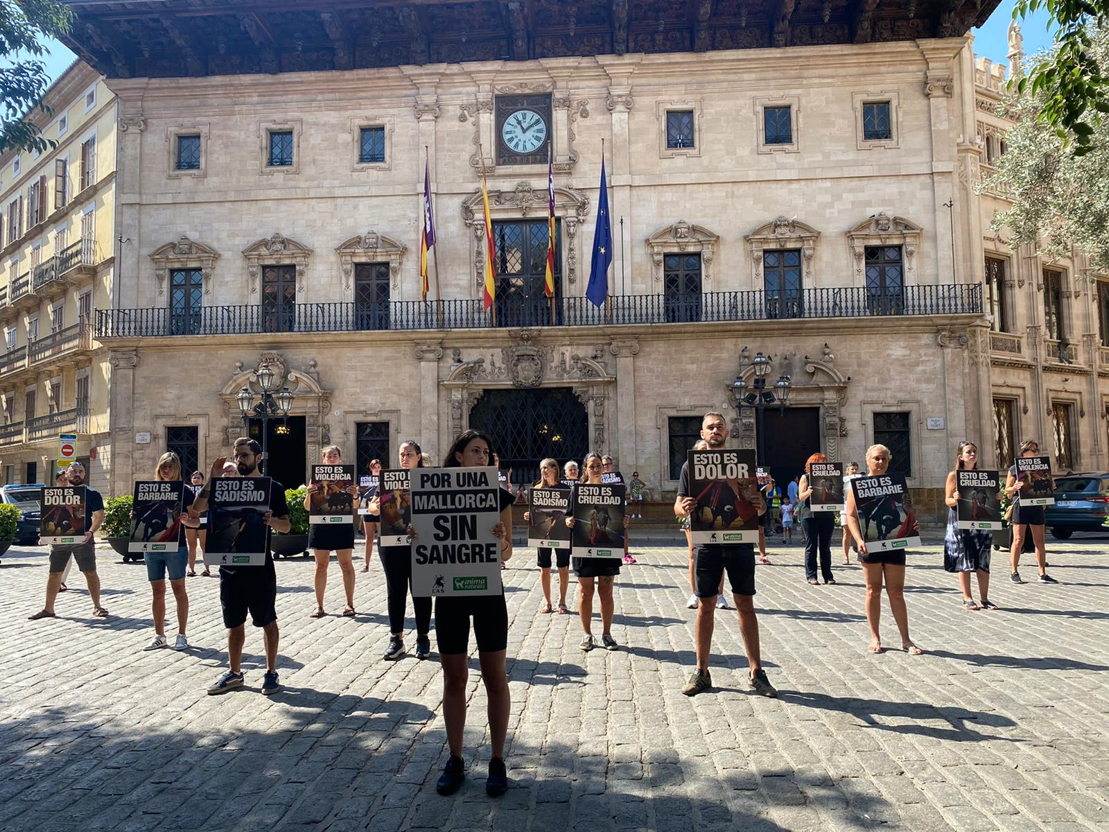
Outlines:
<svg viewBox="0 0 1109 832"><path fill-rule="evenodd" d="M600 454L593 451L586 454L586 458L581 463L581 480L574 487L573 498L570 503L571 514L566 518L566 525L571 529L574 528L574 524L577 522L573 517L573 507L579 500L581 486L601 486L604 484L604 464L601 461ZM610 485L608 487L611 489L617 486ZM620 503L623 503L622 498ZM615 506L612 506L612 508L614 509ZM583 537L579 530L579 539L582 539L587 544L603 542L602 538L609 540L610 536L615 534L613 526L617 524L612 522L612 511L609 511L607 515L601 515L593 509L589 517L582 517L581 521L587 524L587 528ZM619 526L627 529L628 516L623 514L623 505L620 506L619 514L621 517ZM597 547L594 546L594 548ZM602 548L612 549L613 547L606 546ZM588 547L586 550L588 551ZM573 574L578 577L578 618L581 619L581 629L586 633L578 647L581 650L588 651L592 650L596 646L592 626L593 582L596 581L598 584L597 593L601 597L601 646L606 650L619 649L620 645L612 638L612 617L615 615L615 601L612 597L612 589L613 579L620 575L620 558L590 557L587 555L586 557L574 556L571 558L571 562L573 565Z"/></svg>

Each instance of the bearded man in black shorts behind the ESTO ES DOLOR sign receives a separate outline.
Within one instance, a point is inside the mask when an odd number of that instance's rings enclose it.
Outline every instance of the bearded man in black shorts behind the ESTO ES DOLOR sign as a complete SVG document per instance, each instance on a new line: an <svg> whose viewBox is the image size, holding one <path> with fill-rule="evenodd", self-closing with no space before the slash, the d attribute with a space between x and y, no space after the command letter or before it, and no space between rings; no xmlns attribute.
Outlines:
<svg viewBox="0 0 1109 832"><path fill-rule="evenodd" d="M728 423L719 413L706 413L701 420L701 438L709 444L709 450L723 450L728 442ZM682 465L681 481L678 486L678 498L674 500L674 514L689 517L698 510L698 499L691 496L691 471L689 463ZM749 475L754 477L752 469ZM741 477L745 478L745 477ZM752 499L739 499L735 495L736 510L753 508L757 514L766 513L766 501L757 488L751 494ZM723 534L723 532L722 532ZM755 530L757 539L757 529ZM743 647L751 667L749 683L751 689L764 697L776 697L777 691L766 678L762 668L762 655L759 649L759 618L755 616L755 547L752 542L737 544L703 544L696 551L696 595L700 603L696 611L696 668L689 682L682 688L688 697L695 696L712 687L709 674L709 655L712 648L713 616L716 611L716 591L721 578L728 572L732 584L732 596L735 609L740 616L740 633L743 636Z"/></svg>

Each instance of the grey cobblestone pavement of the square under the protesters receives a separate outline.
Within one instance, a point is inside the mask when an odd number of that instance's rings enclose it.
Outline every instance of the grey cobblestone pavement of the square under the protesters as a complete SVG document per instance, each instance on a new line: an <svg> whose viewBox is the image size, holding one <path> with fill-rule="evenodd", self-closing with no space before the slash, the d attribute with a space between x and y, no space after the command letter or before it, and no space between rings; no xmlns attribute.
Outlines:
<svg viewBox="0 0 1109 832"><path fill-rule="evenodd" d="M857 566L837 569L838 586L811 587L800 548L771 550L756 605L777 700L747 691L732 611L718 612L716 688L680 693L693 664L682 549L643 548L624 568L613 627L624 647L590 653L577 616L538 613L535 554L518 549L506 572L513 788L499 800L484 790L476 658L470 778L452 798L435 793L439 666L380 660L376 558L357 574L364 612L318 621L311 564L279 561L283 689L258 692L251 630L247 687L207 697L225 661L216 578L187 579L192 649L142 652L141 565L100 548L112 616L90 616L74 572L59 618L31 622L45 554L11 550L0 566L0 829L1109 830L1106 539L1051 541L1059 586L1013 586L995 556L998 612L962 610L937 547L912 556L922 657L866 652ZM342 605L333 564L327 606ZM887 607L883 632L899 643Z"/></svg>

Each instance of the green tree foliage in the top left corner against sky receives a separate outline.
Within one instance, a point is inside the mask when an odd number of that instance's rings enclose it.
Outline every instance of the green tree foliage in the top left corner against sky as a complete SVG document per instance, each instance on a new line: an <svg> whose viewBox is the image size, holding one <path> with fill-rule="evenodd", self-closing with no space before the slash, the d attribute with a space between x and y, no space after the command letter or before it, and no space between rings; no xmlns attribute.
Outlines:
<svg viewBox="0 0 1109 832"><path fill-rule="evenodd" d="M35 108L50 113L42 95L50 87L42 41L69 32L73 12L57 0L0 0L0 153L9 148L44 151L42 138L26 116Z"/></svg>

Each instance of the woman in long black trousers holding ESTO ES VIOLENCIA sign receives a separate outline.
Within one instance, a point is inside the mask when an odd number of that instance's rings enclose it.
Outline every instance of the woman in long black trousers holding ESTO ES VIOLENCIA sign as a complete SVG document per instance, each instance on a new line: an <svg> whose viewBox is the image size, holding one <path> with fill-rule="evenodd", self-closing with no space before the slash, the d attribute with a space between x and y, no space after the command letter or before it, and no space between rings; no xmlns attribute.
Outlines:
<svg viewBox="0 0 1109 832"><path fill-rule="evenodd" d="M400 443L397 449L400 470L383 470L378 493L370 497L366 508L372 517L379 518L377 549L385 570L387 606L389 610L389 646L385 660L393 661L405 655L405 607L413 578L411 546L408 541L406 515L411 513L411 494L405 471L424 467L419 445L413 439ZM416 658L431 655L431 599L413 596L416 612Z"/></svg>

